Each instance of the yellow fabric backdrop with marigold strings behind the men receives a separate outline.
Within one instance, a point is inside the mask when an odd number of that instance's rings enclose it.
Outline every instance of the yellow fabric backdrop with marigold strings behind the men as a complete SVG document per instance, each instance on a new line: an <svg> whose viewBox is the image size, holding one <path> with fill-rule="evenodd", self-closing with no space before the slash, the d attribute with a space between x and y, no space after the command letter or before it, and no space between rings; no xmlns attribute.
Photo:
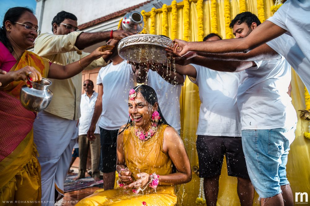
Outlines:
<svg viewBox="0 0 310 206"><path fill-rule="evenodd" d="M226 1L226 2L225 2ZM232 36L232 30L225 26L225 6L226 14L230 9L230 20L240 13L240 8L250 11L259 16L261 20L268 19L272 16L270 11L273 6L272 0L216 0L216 14L212 13L213 0L202 2L203 16L197 13L201 10L200 0L184 0L183 2L171 2L171 5L164 6L162 9L152 9L150 12L144 12L145 33L161 35L165 33L170 38L184 39L188 41L201 40L201 36L206 36L212 30L212 25L216 24L216 31L226 38ZM240 5L241 3L241 5ZM197 6L198 4L198 6ZM185 6L184 6L185 5ZM259 11L258 11L259 5ZM214 10L213 10L214 11ZM260 14L260 15L259 15ZM264 15L263 15L264 14ZM154 16L155 15L155 16ZM164 15L164 18L162 16ZM212 15L216 15L216 23L212 24ZM198 18L199 17L199 18ZM202 18L202 25L201 25ZM226 18L229 18L229 16ZM164 25L163 25L164 24ZM202 27L202 28L201 28ZM214 28L213 28L214 29ZM203 31L202 31L203 30ZM203 32L203 34L202 34ZM263 35L263 34L262 34ZM305 108L304 103L304 86L299 77L292 72L292 103L299 116L299 109ZM220 99L219 99L220 101ZM199 95L198 87L186 79L180 99L181 108L181 137L187 149L191 166L198 165L196 151L196 129L199 113ZM223 125L229 127L229 125ZM291 145L291 150L287 163L287 176L290 181L293 194L295 192L308 192L310 195L310 140L303 137L303 133L308 131L308 122L298 120L296 139ZM240 205L237 195L237 178L227 175L226 161L224 160L222 174L219 180L219 195L217 205ZM195 205L198 196L199 178L193 173L193 180L190 183L178 187L178 204ZM294 195L293 195L294 196ZM254 205L259 205L258 195L255 194Z"/></svg>

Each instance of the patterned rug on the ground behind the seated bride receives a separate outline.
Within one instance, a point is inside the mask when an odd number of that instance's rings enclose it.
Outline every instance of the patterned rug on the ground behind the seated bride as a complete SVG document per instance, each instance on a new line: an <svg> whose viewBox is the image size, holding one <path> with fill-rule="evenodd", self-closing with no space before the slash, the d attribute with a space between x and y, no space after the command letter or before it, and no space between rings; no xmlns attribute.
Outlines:
<svg viewBox="0 0 310 206"><path fill-rule="evenodd" d="M65 181L64 181L64 192L70 192L74 190L79 190L87 187L103 187L103 180L100 179L99 181L95 181L94 178L92 177L86 177L82 179L77 179L76 178L78 174L73 174L73 175L67 175Z"/></svg>

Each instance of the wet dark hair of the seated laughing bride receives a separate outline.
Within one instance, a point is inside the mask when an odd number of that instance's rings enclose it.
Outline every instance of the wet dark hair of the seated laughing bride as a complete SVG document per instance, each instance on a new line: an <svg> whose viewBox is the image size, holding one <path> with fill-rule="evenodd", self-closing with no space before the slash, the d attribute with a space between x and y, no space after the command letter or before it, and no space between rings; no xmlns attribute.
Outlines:
<svg viewBox="0 0 310 206"><path fill-rule="evenodd" d="M148 102L149 109L151 109L156 102L158 103L156 92L155 92L155 90L152 87L150 87L148 85L141 84L141 85L136 86L133 89L135 90L135 92L137 94L139 92L141 93L141 95L144 97L144 99ZM164 116L162 114L162 111L160 110L159 104L158 104L157 111L158 111L159 116L160 116L160 120L158 121L157 125L160 125L160 124L167 124L167 125L169 125L167 123L167 121L165 120L165 118L164 118ZM130 125L133 125L133 124L134 124L133 121L129 117L128 122L126 124L126 127L121 132L119 132L118 134L122 133L126 128L128 128Z"/></svg>

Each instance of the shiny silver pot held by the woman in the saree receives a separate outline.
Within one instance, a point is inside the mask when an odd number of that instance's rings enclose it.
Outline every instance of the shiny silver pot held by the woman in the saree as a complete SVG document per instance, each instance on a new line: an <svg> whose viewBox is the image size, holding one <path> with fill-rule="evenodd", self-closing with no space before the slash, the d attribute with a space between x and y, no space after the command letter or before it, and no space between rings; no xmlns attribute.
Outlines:
<svg viewBox="0 0 310 206"><path fill-rule="evenodd" d="M20 103L26 109L39 112L50 104L53 93L48 87L52 82L46 78L42 78L40 82L32 82L29 79L32 88L24 85L20 90Z"/></svg>

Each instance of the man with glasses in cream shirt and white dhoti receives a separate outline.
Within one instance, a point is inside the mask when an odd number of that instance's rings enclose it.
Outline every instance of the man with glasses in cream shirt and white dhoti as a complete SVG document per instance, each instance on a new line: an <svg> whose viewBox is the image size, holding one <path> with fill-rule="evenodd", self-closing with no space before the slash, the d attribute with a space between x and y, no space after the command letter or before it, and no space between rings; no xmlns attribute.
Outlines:
<svg viewBox="0 0 310 206"><path fill-rule="evenodd" d="M89 54L80 49L110 37L110 31L84 33L77 30L76 16L65 11L59 12L52 21L53 34L44 33L38 36L34 52L50 62L67 65ZM113 32L114 39L129 35L126 31ZM85 69L105 65L106 61L101 57ZM50 80L53 98L50 105L38 114L33 128L41 164L43 205L53 205L52 202L58 199L59 194L64 195L64 179L78 137L77 120L81 116L82 74L64 80Z"/></svg>

